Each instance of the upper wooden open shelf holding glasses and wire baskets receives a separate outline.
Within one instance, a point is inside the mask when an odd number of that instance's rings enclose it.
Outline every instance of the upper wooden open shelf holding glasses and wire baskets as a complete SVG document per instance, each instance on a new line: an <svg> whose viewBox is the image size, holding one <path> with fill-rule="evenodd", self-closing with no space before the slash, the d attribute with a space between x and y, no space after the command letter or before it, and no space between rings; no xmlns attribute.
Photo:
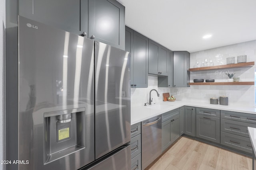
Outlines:
<svg viewBox="0 0 256 170"><path fill-rule="evenodd" d="M251 67L251 66L254 66L254 61L247 62L247 63L226 64L226 65L220 65L220 66L189 68L188 71L219 70L219 69L226 69L226 68L240 68L240 67Z"/></svg>

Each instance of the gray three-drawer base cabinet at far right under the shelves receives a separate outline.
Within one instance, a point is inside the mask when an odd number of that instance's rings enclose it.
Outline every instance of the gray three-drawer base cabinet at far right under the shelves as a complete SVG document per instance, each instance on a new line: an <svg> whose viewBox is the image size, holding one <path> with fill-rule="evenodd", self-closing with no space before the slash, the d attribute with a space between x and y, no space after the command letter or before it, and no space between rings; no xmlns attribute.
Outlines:
<svg viewBox="0 0 256 170"><path fill-rule="evenodd" d="M220 144L252 155L247 127L256 127L256 115L221 110L220 118Z"/></svg>

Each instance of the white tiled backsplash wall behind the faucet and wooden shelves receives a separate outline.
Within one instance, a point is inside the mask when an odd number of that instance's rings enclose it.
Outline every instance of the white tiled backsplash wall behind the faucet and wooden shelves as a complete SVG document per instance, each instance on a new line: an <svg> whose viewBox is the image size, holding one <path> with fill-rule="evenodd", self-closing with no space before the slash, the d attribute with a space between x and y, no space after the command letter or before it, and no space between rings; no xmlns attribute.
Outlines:
<svg viewBox="0 0 256 170"><path fill-rule="evenodd" d="M247 62L254 61L256 63L256 40L215 49L198 51L190 53L190 68L193 68L196 60L201 61L205 58L212 59L214 65L218 63L226 64L227 57L237 57L239 55L247 55ZM222 61L222 62L221 62ZM223 62L224 61L224 62ZM200 65L200 64L199 64ZM190 72L190 82L195 78L215 79L216 82L227 82L228 76L225 73L236 73L234 77L240 77L240 81L254 81L254 70L256 66L246 68L232 68L224 70L210 70ZM152 89L158 90L160 97L152 92L153 101L162 100L162 93L169 92L173 94L177 100L186 100L194 102L210 103L211 97L219 98L226 94L230 94L229 105L241 105L254 107L254 86L190 86L186 88L158 88L157 77L148 77L148 88L132 88L131 104L142 105L148 102L149 92ZM180 95L177 95L177 91ZM201 96L201 92L205 92L206 96Z"/></svg>

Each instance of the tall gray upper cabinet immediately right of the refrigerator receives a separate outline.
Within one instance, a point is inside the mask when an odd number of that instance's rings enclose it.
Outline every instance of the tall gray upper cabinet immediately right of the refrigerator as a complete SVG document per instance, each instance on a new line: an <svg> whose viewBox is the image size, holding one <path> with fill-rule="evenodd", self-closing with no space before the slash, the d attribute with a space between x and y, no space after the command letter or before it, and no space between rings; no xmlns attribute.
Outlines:
<svg viewBox="0 0 256 170"><path fill-rule="evenodd" d="M125 51L131 53L130 87L148 87L148 38L126 27Z"/></svg>

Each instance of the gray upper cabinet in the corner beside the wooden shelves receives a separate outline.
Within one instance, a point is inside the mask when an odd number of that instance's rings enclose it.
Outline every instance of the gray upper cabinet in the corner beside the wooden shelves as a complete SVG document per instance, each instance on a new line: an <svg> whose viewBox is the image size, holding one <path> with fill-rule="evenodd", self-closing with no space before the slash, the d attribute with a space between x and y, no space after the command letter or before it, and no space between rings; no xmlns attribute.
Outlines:
<svg viewBox="0 0 256 170"><path fill-rule="evenodd" d="M188 51L173 52L173 86L188 87L190 72L190 53Z"/></svg>

